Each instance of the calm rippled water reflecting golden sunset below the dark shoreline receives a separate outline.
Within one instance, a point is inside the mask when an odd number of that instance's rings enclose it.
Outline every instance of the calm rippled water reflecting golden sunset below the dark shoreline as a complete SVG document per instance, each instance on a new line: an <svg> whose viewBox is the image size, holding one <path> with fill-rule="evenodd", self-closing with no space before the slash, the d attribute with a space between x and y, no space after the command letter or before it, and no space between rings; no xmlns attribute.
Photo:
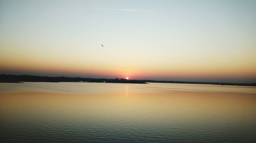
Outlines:
<svg viewBox="0 0 256 143"><path fill-rule="evenodd" d="M1 142L254 142L256 88L0 83Z"/></svg>

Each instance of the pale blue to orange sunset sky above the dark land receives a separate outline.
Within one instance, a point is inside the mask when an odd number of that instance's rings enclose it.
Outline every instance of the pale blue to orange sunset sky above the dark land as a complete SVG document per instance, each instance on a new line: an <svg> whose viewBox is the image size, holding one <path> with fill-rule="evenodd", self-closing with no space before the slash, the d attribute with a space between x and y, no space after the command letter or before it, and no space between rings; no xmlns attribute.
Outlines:
<svg viewBox="0 0 256 143"><path fill-rule="evenodd" d="M256 82L256 1L0 0L0 74Z"/></svg>

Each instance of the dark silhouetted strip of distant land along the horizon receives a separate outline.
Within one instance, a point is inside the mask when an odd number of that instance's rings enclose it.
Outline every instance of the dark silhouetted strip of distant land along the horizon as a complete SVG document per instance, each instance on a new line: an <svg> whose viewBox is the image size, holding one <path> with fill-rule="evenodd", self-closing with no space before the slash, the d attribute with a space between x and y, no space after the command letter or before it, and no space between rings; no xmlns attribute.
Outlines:
<svg viewBox="0 0 256 143"><path fill-rule="evenodd" d="M82 77L49 77L34 75L12 75L0 74L0 82L4 83L22 83L22 82L106 82L106 83L188 83L188 84L214 84L214 85L240 85L256 86L256 83L228 83L228 82L197 82L197 81L164 81L164 80L126 80L123 78L82 78Z"/></svg>

